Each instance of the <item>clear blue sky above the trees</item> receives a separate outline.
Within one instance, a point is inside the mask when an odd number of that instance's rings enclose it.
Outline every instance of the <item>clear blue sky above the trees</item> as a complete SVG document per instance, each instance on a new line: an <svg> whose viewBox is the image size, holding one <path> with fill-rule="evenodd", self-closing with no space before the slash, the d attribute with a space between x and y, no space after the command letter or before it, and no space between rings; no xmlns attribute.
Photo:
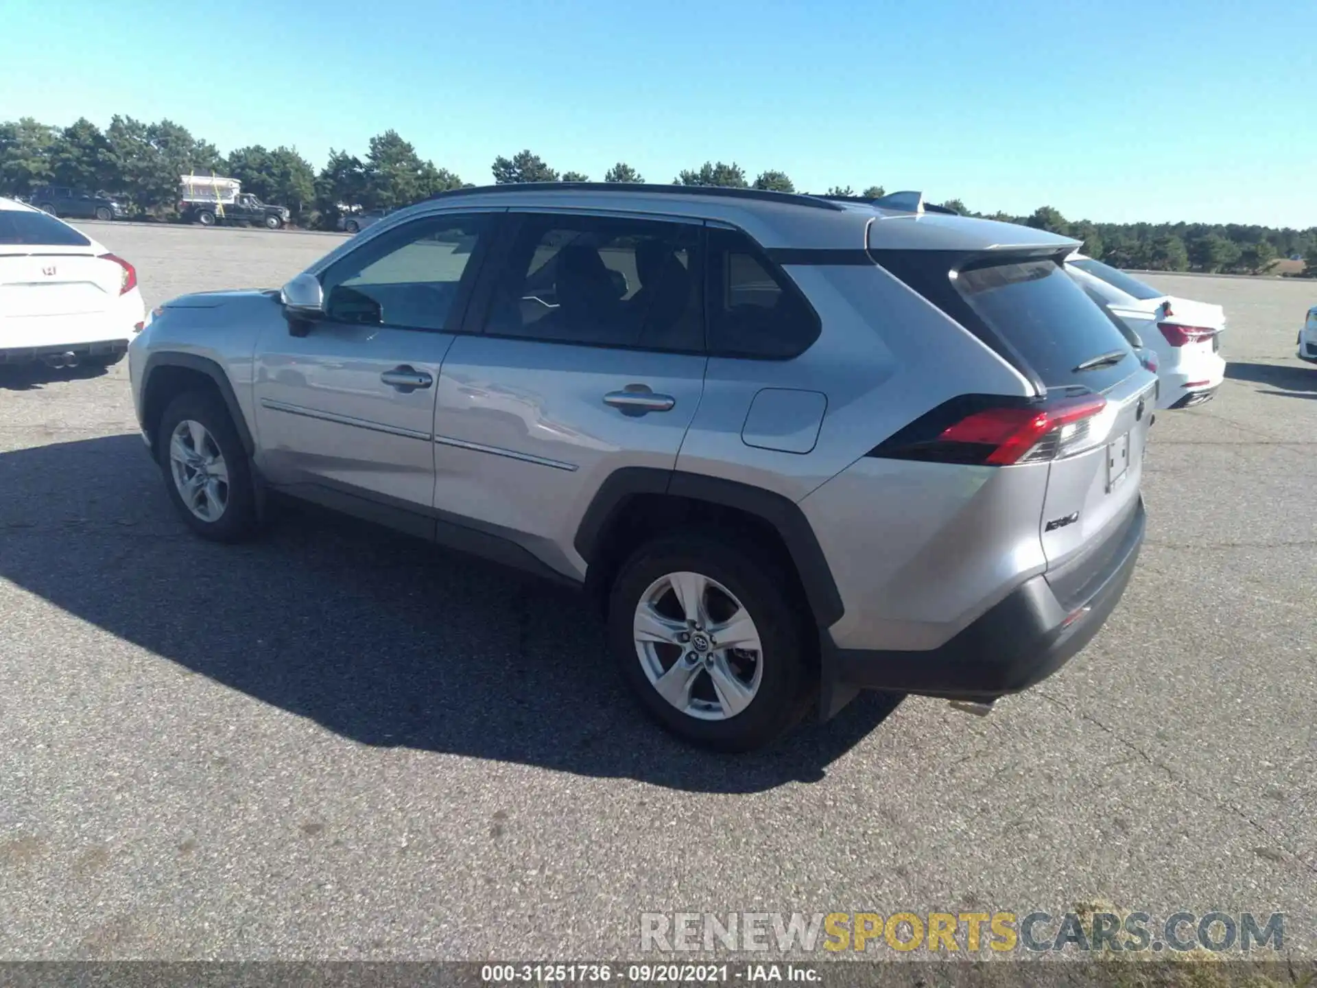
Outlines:
<svg viewBox="0 0 1317 988"><path fill-rule="evenodd" d="M291 144L317 169L394 128L475 183L529 148L593 178L623 159L670 182L722 159L976 209L1317 225L1312 0L186 9L5 0L0 119L169 117L225 151Z"/></svg>

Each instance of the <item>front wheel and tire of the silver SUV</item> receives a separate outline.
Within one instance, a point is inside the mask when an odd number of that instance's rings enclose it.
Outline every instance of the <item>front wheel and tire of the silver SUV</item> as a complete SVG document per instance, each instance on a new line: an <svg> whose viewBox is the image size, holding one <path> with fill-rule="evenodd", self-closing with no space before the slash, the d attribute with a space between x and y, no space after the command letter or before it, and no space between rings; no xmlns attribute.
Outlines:
<svg viewBox="0 0 1317 988"><path fill-rule="evenodd" d="M165 487L188 528L213 541L255 534L252 462L217 395L178 395L161 416L155 443Z"/></svg>

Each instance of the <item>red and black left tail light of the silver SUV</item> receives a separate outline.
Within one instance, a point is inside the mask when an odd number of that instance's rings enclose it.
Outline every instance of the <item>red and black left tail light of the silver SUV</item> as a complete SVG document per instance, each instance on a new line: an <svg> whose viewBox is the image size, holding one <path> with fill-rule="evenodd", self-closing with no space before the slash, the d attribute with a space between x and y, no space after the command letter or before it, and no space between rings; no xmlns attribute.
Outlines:
<svg viewBox="0 0 1317 988"><path fill-rule="evenodd" d="M934 408L869 452L897 460L947 464L1046 462L1093 445L1101 395L1021 402L967 395Z"/></svg>

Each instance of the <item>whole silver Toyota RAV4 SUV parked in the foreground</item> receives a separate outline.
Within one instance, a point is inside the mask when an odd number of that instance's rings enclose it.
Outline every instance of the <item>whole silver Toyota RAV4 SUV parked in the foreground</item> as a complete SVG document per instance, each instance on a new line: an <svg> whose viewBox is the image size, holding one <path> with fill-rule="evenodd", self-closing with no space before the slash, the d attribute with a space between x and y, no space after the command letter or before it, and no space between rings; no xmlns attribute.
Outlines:
<svg viewBox="0 0 1317 988"><path fill-rule="evenodd" d="M984 711L1115 607L1156 378L1075 248L918 194L468 188L155 310L133 397L200 535L279 493L581 586L649 714L748 750L860 689Z"/></svg>

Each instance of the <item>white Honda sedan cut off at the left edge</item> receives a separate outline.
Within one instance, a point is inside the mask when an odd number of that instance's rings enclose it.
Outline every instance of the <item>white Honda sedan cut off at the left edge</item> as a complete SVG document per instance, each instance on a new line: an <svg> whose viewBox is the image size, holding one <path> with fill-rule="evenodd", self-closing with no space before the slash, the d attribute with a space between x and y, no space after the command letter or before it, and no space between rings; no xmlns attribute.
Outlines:
<svg viewBox="0 0 1317 988"><path fill-rule="evenodd" d="M109 366L145 319L128 261L54 216L0 198L0 364Z"/></svg>

